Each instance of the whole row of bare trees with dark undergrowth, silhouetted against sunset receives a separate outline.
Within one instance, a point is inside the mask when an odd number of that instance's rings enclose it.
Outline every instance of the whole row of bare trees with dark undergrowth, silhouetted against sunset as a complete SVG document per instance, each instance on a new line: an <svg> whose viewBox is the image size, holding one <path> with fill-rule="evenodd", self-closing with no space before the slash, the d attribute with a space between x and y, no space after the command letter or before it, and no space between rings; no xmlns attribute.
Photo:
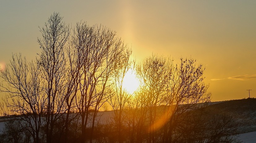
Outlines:
<svg viewBox="0 0 256 143"><path fill-rule="evenodd" d="M1 111L13 118L0 142L237 142L232 118L205 110L202 64L158 55L135 64L114 31L85 22L71 30L62 19L54 13L40 28L36 60L13 55L1 69ZM123 79L133 68L141 85L130 94Z"/></svg>

